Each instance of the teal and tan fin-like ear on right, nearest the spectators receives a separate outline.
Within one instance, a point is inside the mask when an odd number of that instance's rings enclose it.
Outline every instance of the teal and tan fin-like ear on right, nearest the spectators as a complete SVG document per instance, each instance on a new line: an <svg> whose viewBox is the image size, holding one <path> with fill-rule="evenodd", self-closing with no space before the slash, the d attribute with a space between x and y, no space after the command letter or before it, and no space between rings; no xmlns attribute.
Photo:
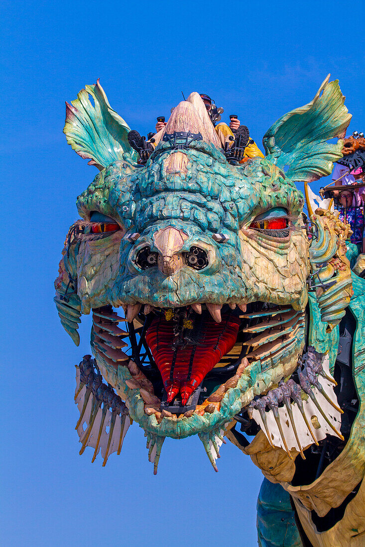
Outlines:
<svg viewBox="0 0 365 547"><path fill-rule="evenodd" d="M264 135L267 159L284 171L288 166L286 175L294 181L316 181L342 158L343 141L327 141L345 136L351 114L338 80L329 82L329 76L310 103L284 115Z"/></svg>

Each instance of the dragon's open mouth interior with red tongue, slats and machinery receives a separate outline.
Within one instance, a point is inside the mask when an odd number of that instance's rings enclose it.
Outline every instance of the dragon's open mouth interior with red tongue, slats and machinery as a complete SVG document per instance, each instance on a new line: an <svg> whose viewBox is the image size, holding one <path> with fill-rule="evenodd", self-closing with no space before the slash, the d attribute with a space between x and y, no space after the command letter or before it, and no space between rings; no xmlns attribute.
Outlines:
<svg viewBox="0 0 365 547"><path fill-rule="evenodd" d="M219 400L222 386L235 387L245 357L260 359L263 370L272 366L276 354L295 344L303 321L303 313L290 305L266 302L145 305L131 322L103 306L93 310L92 345L96 356L114 367L132 359L153 387L159 410L181 415Z"/></svg>

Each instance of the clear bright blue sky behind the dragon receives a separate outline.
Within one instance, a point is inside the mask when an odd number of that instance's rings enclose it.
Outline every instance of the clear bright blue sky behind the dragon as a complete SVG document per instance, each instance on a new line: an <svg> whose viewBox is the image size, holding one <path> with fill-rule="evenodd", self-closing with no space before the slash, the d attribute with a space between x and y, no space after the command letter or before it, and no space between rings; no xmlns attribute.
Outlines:
<svg viewBox="0 0 365 547"><path fill-rule="evenodd" d="M227 444L214 473L198 438L167 440L158 475L143 432L121 456L78 455L73 345L53 304L76 196L96 174L62 134L64 101L104 87L132 129L191 91L237 114L261 146L330 72L365 131L364 4L4 1L2 60L2 545L256 545L262 475ZM322 182L321 182L322 184Z"/></svg>

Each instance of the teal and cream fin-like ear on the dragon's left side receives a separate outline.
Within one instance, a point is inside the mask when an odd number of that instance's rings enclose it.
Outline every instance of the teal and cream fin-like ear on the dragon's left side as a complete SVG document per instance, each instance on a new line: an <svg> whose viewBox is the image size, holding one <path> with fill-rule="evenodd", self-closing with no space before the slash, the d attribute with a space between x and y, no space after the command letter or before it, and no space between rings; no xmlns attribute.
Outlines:
<svg viewBox="0 0 365 547"><path fill-rule="evenodd" d="M128 124L111 108L99 79L95 85L85 85L71 104L66 102L64 133L67 143L79 156L90 159L88 164L100 171L112 161L126 159L123 153L128 153L132 160L138 159L128 142L129 131Z"/></svg>

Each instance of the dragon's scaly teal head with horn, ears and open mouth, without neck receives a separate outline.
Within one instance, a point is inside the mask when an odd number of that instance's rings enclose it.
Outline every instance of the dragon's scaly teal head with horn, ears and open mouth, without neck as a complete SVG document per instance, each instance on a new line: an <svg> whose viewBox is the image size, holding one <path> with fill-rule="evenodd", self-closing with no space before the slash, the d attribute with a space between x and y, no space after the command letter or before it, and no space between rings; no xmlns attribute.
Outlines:
<svg viewBox="0 0 365 547"><path fill-rule="evenodd" d="M239 165L197 93L174 108L146 165L99 82L66 105L67 142L100 171L77 199L55 282L77 345L81 314L93 313L95 360L77 368L81 452L101 449L105 463L135 421L155 471L164 438L194 434L216 468L234 417L298 366L309 290L328 332L350 300L348 229L322 210L306 222L295 187L341 158L350 115L338 82L272 125L265 158Z"/></svg>

